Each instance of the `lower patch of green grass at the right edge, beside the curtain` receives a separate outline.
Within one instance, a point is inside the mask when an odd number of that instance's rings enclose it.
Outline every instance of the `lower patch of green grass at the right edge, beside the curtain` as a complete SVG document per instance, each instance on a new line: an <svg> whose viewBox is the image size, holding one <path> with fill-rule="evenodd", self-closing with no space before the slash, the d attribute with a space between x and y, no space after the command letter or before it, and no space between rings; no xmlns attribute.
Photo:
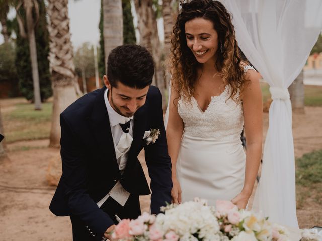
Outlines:
<svg viewBox="0 0 322 241"><path fill-rule="evenodd" d="M296 159L296 183L313 187L322 183L322 150L304 154Z"/></svg>

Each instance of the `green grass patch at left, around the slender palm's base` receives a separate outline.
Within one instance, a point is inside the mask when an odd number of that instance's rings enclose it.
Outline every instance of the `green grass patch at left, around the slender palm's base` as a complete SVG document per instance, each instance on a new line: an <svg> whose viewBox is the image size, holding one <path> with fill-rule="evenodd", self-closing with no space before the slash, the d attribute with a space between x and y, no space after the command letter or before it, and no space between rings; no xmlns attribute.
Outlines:
<svg viewBox="0 0 322 241"><path fill-rule="evenodd" d="M33 104L15 104L12 111L3 113L7 143L49 138L52 103L44 103L41 111Z"/></svg>

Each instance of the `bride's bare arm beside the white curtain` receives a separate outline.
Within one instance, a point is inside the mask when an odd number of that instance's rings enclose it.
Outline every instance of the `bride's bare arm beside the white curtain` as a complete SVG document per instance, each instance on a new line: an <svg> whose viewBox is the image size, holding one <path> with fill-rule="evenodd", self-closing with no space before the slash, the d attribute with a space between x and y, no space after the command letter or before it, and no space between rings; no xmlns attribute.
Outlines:
<svg viewBox="0 0 322 241"><path fill-rule="evenodd" d="M260 74L249 70L245 74L245 87L242 95L246 136L246 167L244 187L232 202L245 208L252 194L262 155L263 103L259 84Z"/></svg>

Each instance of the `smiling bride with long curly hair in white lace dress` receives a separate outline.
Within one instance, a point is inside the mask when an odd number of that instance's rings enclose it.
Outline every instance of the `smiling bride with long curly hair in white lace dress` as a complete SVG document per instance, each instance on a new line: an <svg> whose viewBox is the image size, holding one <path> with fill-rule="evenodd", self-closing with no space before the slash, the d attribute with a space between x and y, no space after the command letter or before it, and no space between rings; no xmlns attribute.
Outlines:
<svg viewBox="0 0 322 241"><path fill-rule="evenodd" d="M181 6L170 56L172 201L226 199L245 208L262 152L260 75L241 62L231 16L219 1Z"/></svg>

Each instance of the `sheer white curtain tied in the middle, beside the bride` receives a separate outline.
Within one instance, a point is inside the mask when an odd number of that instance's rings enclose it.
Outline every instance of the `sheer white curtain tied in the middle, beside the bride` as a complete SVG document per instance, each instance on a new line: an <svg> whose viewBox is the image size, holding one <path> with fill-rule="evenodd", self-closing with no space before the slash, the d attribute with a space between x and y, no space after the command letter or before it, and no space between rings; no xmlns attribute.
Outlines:
<svg viewBox="0 0 322 241"><path fill-rule="evenodd" d="M292 108L288 86L302 70L322 29L320 0L221 0L233 16L240 49L270 85L262 174L253 210L298 227Z"/></svg>

